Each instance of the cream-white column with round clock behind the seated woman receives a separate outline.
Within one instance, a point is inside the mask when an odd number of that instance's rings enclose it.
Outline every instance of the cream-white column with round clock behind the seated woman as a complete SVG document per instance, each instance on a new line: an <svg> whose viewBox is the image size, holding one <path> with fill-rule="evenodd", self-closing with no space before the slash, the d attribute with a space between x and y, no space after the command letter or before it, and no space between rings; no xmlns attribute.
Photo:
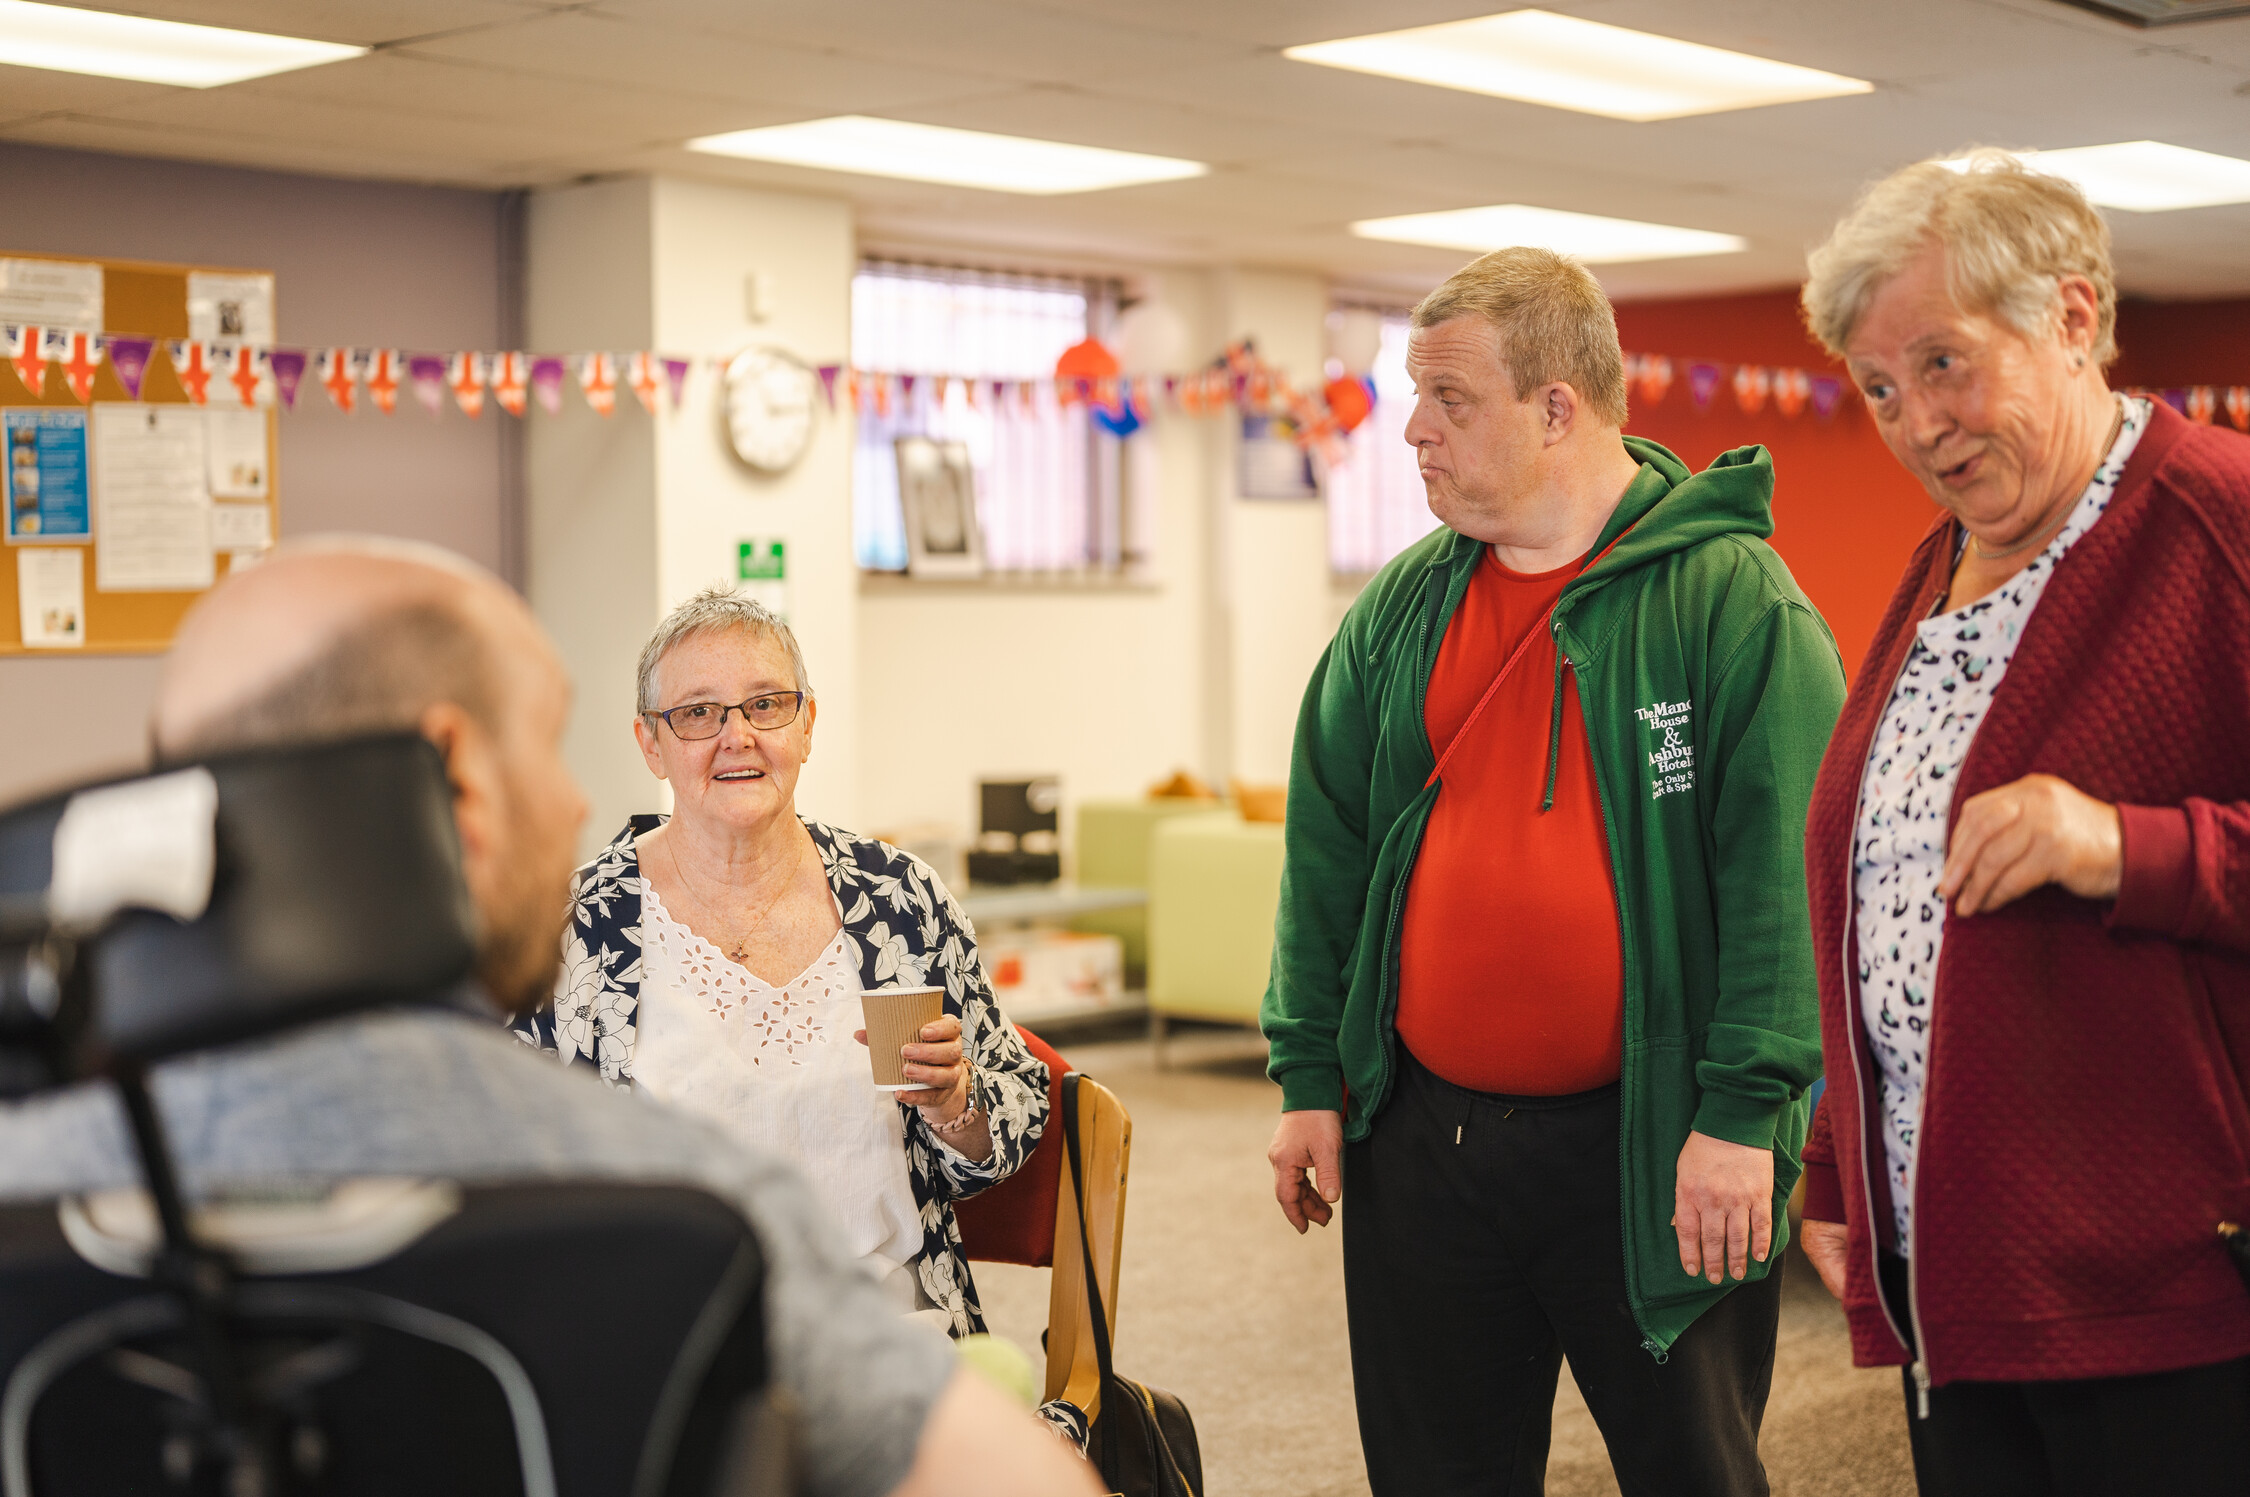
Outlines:
<svg viewBox="0 0 2250 1497"><path fill-rule="evenodd" d="M641 644L664 610L736 579L738 545L788 545L790 617L821 705L799 786L808 815L850 824L857 738L857 574L850 416L819 403L812 446L760 475L727 448L711 358L752 344L808 365L850 349L850 209L826 198L623 178L536 194L524 335L540 351L688 356L686 403L650 419L632 392L603 419L569 374L562 414L526 432L529 592L578 684L569 763L594 804L587 849L668 804L632 745ZM752 322L749 277L765 322ZM623 371L621 371L623 374Z"/></svg>

